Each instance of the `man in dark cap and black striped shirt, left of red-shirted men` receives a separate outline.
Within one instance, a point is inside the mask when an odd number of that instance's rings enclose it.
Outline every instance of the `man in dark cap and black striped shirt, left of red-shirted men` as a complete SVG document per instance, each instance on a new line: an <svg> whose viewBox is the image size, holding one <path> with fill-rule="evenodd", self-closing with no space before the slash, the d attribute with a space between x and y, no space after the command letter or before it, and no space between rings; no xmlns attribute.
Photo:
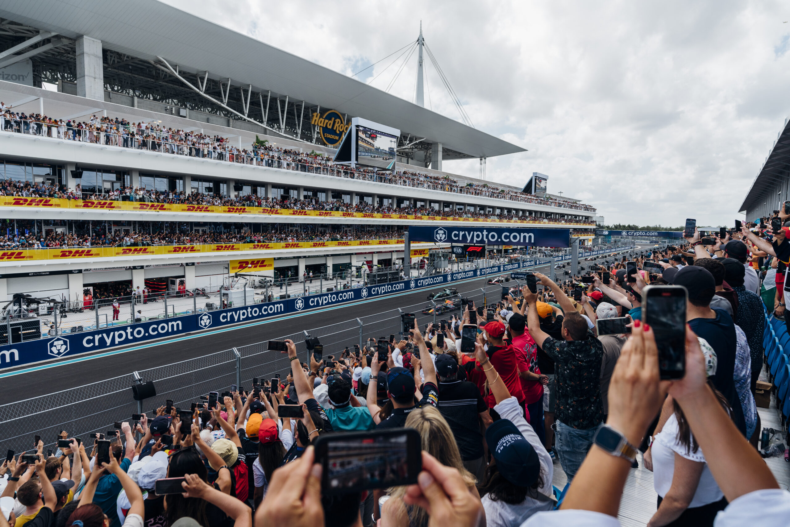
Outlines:
<svg viewBox="0 0 790 527"><path fill-rule="evenodd" d="M450 355L436 357L439 380L439 412L453 431L465 468L483 481L486 469L480 420L487 428L493 423L488 405L474 382L458 380L458 363Z"/></svg>

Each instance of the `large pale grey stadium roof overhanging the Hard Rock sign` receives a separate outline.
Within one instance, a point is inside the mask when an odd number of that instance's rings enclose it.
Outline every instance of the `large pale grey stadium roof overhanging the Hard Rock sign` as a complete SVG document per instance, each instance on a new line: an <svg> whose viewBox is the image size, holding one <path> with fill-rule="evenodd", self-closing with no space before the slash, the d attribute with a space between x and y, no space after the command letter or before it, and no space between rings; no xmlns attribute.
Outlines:
<svg viewBox="0 0 790 527"><path fill-rule="evenodd" d="M243 15L243 13L239 13ZM0 17L75 39L86 35L106 49L137 58L164 58L188 73L209 72L320 104L354 117L427 137L471 157L502 156L525 149L419 107L344 74L262 43L250 36L156 0L4 0Z"/></svg>

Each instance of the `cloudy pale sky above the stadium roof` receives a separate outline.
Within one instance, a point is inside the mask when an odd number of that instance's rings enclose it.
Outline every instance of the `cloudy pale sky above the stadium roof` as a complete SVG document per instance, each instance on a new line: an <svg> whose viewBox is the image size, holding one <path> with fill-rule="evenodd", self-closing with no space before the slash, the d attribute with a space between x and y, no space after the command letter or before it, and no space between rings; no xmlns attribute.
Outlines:
<svg viewBox="0 0 790 527"><path fill-rule="evenodd" d="M732 224L790 115L783 2L166 1L348 75L422 20L474 126L529 150L488 160L488 179L542 172L608 224ZM413 100L416 54L393 81L398 55L359 78ZM426 62L426 106L460 120Z"/></svg>

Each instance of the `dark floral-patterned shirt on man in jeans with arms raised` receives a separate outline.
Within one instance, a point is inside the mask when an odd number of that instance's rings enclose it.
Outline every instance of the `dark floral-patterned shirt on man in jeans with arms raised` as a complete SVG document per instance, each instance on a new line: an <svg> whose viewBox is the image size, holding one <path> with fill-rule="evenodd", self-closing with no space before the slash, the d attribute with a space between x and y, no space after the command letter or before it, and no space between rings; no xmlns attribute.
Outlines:
<svg viewBox="0 0 790 527"><path fill-rule="evenodd" d="M558 341L548 337L543 349L555 361L555 419L581 430L602 423L600 364L604 346L592 336L585 341Z"/></svg>

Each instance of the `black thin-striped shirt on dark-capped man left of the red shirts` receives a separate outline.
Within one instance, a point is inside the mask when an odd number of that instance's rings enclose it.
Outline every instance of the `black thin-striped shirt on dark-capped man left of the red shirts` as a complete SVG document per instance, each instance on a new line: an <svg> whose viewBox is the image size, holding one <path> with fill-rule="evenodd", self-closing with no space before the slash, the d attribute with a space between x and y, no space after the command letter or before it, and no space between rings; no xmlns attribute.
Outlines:
<svg viewBox="0 0 790 527"><path fill-rule="evenodd" d="M485 412L488 405L480 397L477 385L467 381L439 382L438 409L450 424L461 458L471 461L483 456L483 434L477 414Z"/></svg>

